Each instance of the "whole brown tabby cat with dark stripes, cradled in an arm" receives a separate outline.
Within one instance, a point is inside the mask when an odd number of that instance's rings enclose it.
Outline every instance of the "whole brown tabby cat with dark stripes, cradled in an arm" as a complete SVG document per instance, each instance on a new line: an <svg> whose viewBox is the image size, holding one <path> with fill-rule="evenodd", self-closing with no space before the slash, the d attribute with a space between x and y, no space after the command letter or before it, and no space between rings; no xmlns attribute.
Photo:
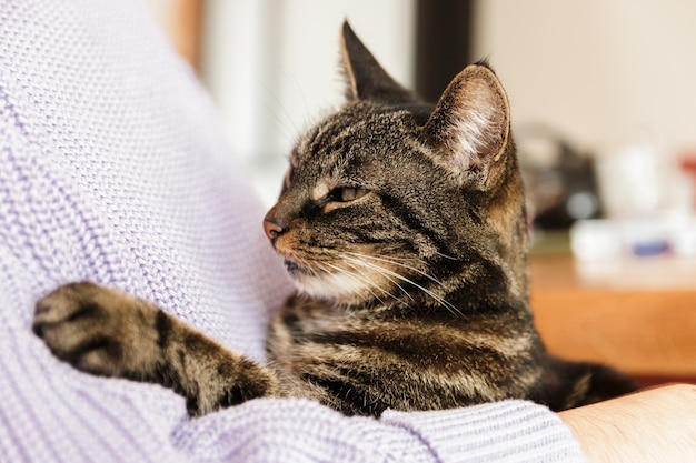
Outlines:
<svg viewBox="0 0 696 463"><path fill-rule="evenodd" d="M480 62L432 107L344 24L347 101L305 133L265 219L298 293L268 366L151 303L93 283L38 302L34 332L93 374L149 381L191 415L260 396L345 414L509 397L563 410L633 391L546 353L529 310L527 221L507 97Z"/></svg>

